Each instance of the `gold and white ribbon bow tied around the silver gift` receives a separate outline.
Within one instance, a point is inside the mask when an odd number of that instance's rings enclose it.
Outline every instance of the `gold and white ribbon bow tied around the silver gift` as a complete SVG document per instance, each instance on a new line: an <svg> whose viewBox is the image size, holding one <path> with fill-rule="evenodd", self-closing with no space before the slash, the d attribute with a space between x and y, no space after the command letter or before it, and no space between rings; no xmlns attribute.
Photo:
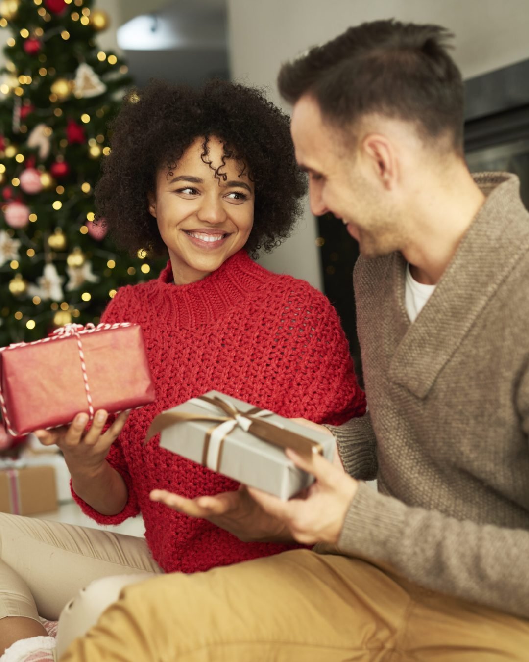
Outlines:
<svg viewBox="0 0 529 662"><path fill-rule="evenodd" d="M202 451L202 466L205 467L206 458L208 457L208 448L214 430L216 430L220 424L228 420L233 420L234 427L241 427L241 421L239 420L240 417L250 421L249 426L247 426L247 432L263 440L263 442L268 442L268 444L272 444L272 446L277 446L278 448L292 448L293 451L298 453L298 455L302 455L302 457L305 457L305 459L310 459L312 453L320 453L320 455L323 454L323 448L318 442L307 439L303 435L292 432L291 430L280 428L268 420L259 418L257 414L265 411L259 407L253 407L247 412L242 412L233 404L230 404L229 402L226 402L217 396L210 398L206 395L202 395L197 399L209 402L210 404L220 408L222 411L224 411L226 416L215 416L212 414L190 414L189 412L164 412L162 414L158 414L158 416L153 419L153 422L151 422L151 425L149 426L149 430L147 430L147 437L145 438L145 442L143 443L147 444L149 439L151 439L155 434L162 432L175 423L199 420L211 420L217 422L218 425L213 426L210 428L210 430L208 430L208 432L206 432L204 449ZM269 416L270 414L265 415ZM220 471L223 447L224 438L222 438L222 441L220 442L220 448L214 471Z"/></svg>

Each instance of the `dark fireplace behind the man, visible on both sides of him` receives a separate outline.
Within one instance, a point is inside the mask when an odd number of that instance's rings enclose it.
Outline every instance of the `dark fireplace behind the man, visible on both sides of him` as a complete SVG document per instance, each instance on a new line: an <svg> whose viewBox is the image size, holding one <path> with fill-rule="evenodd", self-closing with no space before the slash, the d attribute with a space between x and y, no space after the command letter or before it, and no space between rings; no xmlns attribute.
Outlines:
<svg viewBox="0 0 529 662"><path fill-rule="evenodd" d="M465 153L472 172L505 170L520 177L529 209L529 60L465 82ZM341 221L318 218L325 294L341 318L361 381L360 348L352 291L358 245Z"/></svg>

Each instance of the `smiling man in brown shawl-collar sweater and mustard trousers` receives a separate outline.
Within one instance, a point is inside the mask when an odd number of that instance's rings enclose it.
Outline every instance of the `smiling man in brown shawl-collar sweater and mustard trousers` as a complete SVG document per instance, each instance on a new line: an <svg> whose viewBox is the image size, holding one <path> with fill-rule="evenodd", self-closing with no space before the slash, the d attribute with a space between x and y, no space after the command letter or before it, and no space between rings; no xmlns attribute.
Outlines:
<svg viewBox="0 0 529 662"><path fill-rule="evenodd" d="M514 175L468 171L449 36L362 24L279 76L311 209L360 244L346 471L289 451L305 498L153 495L316 547L129 587L65 661L528 659L529 214Z"/></svg>

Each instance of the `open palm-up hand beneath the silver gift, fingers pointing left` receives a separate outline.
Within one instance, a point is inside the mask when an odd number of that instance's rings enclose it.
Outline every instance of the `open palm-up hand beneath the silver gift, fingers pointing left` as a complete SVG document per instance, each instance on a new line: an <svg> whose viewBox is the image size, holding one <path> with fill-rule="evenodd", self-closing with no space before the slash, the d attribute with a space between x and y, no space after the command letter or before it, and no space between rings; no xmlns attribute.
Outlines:
<svg viewBox="0 0 529 662"><path fill-rule="evenodd" d="M241 485L237 492L224 492L216 496L198 496L193 499L165 490L153 490L151 500L169 508L212 522L229 531L243 542L294 542L284 524L270 516Z"/></svg>

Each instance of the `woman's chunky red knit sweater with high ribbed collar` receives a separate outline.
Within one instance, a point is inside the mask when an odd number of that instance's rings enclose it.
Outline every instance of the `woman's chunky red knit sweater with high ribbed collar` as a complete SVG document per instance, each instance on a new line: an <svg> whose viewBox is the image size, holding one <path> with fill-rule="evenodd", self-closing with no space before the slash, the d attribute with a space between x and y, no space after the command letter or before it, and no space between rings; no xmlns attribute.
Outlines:
<svg viewBox="0 0 529 662"><path fill-rule="evenodd" d="M237 489L237 483L159 448L159 437L142 442L157 414L211 389L288 418L341 424L364 414L364 394L329 301L305 281L266 271L241 250L197 283L174 285L169 263L158 279L122 287L102 321L141 324L157 399L131 412L107 458L126 481L125 508L104 516L74 495L83 511L100 524L119 524L141 511L147 544L166 572L202 571L289 549L241 542L149 500L155 488L193 498Z"/></svg>

